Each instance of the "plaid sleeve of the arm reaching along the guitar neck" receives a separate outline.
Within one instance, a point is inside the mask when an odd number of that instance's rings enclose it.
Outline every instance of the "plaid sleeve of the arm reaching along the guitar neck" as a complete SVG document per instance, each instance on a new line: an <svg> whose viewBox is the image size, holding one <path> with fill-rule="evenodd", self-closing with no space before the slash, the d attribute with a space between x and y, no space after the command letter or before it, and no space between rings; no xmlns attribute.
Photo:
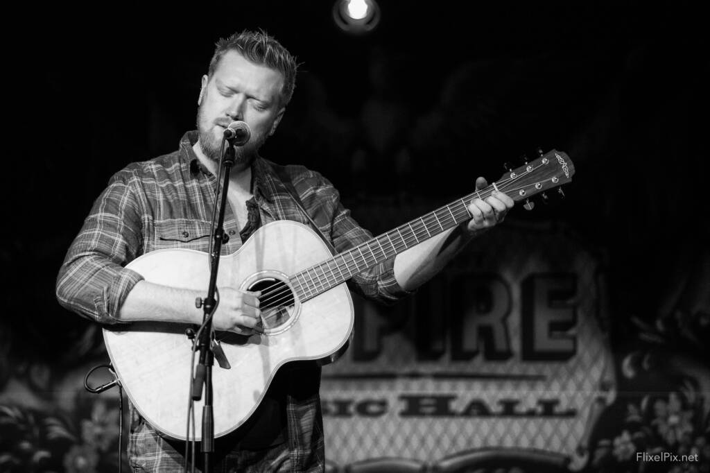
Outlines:
<svg viewBox="0 0 710 473"><path fill-rule="evenodd" d="M316 216L317 222L320 220L317 216L325 214L329 217L329 224L321 226L321 229L329 227L333 246L338 253L372 239L372 234L362 228L351 217L350 210L342 205L339 192L329 180L310 171L307 181L311 181L308 184L312 193L307 192L304 203ZM365 298L388 305L413 293L403 289L395 279L394 258L356 274L348 281L348 287Z"/></svg>

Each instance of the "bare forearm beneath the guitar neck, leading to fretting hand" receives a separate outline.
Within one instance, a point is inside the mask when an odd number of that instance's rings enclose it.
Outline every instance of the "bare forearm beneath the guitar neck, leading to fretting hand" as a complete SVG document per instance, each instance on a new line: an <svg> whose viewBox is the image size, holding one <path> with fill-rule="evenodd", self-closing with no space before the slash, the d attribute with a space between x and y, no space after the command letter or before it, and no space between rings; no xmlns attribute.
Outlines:
<svg viewBox="0 0 710 473"><path fill-rule="evenodd" d="M395 256L395 279L403 289L414 290L441 271L472 238L459 225L403 251Z"/></svg>

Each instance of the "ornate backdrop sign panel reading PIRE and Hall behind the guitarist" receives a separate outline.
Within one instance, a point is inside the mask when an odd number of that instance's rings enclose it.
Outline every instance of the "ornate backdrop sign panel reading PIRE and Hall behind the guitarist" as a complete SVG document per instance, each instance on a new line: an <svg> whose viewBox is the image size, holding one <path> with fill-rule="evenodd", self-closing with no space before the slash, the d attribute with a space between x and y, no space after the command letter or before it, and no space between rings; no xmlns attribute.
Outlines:
<svg viewBox="0 0 710 473"><path fill-rule="evenodd" d="M327 457L584 452L613 395L602 288L577 239L507 222L393 308L356 300L353 343L323 371Z"/></svg>

